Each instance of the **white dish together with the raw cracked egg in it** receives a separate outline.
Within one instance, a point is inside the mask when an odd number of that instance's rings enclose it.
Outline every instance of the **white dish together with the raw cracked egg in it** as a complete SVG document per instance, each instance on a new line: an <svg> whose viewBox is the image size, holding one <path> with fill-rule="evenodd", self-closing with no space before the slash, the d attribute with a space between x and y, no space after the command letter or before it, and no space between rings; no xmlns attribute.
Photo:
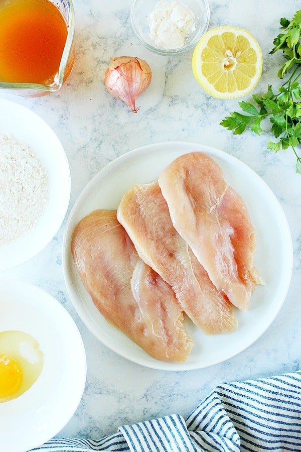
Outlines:
<svg viewBox="0 0 301 452"><path fill-rule="evenodd" d="M73 416L85 387L86 355L72 317L48 293L1 277L0 298L0 449L25 452Z"/></svg>

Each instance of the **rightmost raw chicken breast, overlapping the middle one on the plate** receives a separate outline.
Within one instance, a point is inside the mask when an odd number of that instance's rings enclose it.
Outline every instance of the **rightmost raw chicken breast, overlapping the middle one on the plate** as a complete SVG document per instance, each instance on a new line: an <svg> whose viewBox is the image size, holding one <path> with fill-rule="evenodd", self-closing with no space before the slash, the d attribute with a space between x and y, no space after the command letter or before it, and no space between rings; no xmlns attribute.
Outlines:
<svg viewBox="0 0 301 452"><path fill-rule="evenodd" d="M220 166L201 152L184 154L159 175L175 229L211 281L246 310L262 279L254 267L256 232L241 196Z"/></svg>

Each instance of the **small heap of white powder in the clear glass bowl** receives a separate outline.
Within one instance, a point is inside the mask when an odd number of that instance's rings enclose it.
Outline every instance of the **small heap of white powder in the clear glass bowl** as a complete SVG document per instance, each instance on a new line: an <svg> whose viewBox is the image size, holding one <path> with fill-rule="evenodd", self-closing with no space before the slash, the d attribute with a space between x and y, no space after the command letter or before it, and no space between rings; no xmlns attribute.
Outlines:
<svg viewBox="0 0 301 452"><path fill-rule="evenodd" d="M188 35L196 29L194 13L177 1L159 0L148 21L149 38L164 49L183 47Z"/></svg>

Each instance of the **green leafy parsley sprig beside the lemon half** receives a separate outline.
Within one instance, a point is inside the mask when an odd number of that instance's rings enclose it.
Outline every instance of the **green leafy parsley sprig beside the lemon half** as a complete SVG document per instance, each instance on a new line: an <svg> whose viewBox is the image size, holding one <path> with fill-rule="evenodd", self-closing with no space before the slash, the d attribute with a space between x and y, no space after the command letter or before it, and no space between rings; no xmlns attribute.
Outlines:
<svg viewBox="0 0 301 452"><path fill-rule="evenodd" d="M296 172L301 173L301 156L296 150L301 144L301 10L291 21L280 19L280 28L283 32L273 40L274 47L270 54L282 50L286 61L277 76L280 79L286 77L286 81L276 91L268 85L266 93L253 94L257 106L246 101L238 102L247 115L234 111L220 124L233 130L235 135L242 134L247 127L260 135L261 121L268 118L277 141L268 141L267 149L277 152L292 148L296 157Z"/></svg>

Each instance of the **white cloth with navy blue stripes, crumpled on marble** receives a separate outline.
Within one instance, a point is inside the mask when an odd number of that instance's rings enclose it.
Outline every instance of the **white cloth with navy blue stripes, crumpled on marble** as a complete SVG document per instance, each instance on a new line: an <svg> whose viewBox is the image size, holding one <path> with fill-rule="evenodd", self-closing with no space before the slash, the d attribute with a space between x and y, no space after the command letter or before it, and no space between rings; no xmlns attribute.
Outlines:
<svg viewBox="0 0 301 452"><path fill-rule="evenodd" d="M301 371L217 386L186 419L119 427L99 441L52 439L39 452L301 451Z"/></svg>

